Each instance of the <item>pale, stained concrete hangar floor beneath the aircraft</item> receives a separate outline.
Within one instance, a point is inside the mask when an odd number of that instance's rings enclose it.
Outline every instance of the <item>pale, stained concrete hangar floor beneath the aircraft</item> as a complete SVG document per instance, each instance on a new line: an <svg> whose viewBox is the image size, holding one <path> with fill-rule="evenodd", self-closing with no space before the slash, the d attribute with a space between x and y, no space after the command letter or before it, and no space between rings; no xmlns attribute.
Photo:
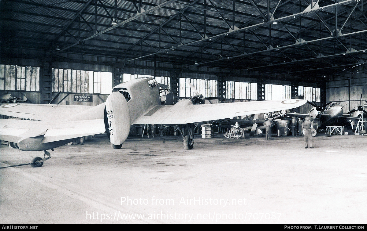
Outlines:
<svg viewBox="0 0 367 231"><path fill-rule="evenodd" d="M128 139L113 150L95 138L55 149L41 168L0 169L0 221L365 223L366 144L359 135L321 134L315 149L303 137L198 136L193 150L181 137ZM0 152L1 167L43 156Z"/></svg>

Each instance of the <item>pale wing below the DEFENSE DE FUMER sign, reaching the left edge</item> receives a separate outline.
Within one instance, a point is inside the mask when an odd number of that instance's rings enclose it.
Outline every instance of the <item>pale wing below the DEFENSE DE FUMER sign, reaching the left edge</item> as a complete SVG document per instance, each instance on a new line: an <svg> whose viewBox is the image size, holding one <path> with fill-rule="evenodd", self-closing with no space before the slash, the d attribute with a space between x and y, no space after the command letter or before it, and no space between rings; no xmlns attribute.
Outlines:
<svg viewBox="0 0 367 231"><path fill-rule="evenodd" d="M41 121L103 119L104 104L98 106L55 104L3 104L0 115ZM93 113L91 113L93 111ZM97 112L97 113L96 113ZM74 116L77 116L76 118Z"/></svg>

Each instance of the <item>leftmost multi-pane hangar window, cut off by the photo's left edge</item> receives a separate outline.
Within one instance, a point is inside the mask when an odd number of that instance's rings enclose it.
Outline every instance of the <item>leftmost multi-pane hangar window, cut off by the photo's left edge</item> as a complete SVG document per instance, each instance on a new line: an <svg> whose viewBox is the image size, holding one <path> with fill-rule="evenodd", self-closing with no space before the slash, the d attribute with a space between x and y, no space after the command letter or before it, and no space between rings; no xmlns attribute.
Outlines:
<svg viewBox="0 0 367 231"><path fill-rule="evenodd" d="M40 91L40 68L0 64L0 90Z"/></svg>

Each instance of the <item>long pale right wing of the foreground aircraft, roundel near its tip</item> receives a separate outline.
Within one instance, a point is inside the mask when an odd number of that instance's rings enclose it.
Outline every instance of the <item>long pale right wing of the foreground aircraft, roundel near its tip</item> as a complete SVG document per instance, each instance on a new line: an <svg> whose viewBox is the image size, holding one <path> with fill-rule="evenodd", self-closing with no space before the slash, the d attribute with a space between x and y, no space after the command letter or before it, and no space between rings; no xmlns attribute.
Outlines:
<svg viewBox="0 0 367 231"><path fill-rule="evenodd" d="M175 105L156 106L138 118L137 124L185 124L209 120L233 118L264 112L296 108L307 100L265 100L223 104L192 104L180 100Z"/></svg>

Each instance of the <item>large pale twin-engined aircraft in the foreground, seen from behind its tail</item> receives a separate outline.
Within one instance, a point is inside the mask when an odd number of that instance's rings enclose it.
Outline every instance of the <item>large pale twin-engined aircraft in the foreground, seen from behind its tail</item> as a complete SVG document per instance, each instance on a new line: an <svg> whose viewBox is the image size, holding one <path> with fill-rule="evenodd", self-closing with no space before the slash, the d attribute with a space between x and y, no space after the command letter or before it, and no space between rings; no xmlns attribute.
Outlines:
<svg viewBox="0 0 367 231"><path fill-rule="evenodd" d="M0 139L23 151L44 151L47 158L33 159L40 167L50 158L47 150L87 135L106 132L112 148L121 148L132 124L178 124L185 149L194 145L194 123L299 107L307 100L252 101L201 104L194 96L173 104L167 85L152 77L121 83L105 103L97 106L3 104L0 114L19 119L0 119ZM195 104L194 104L194 103Z"/></svg>

